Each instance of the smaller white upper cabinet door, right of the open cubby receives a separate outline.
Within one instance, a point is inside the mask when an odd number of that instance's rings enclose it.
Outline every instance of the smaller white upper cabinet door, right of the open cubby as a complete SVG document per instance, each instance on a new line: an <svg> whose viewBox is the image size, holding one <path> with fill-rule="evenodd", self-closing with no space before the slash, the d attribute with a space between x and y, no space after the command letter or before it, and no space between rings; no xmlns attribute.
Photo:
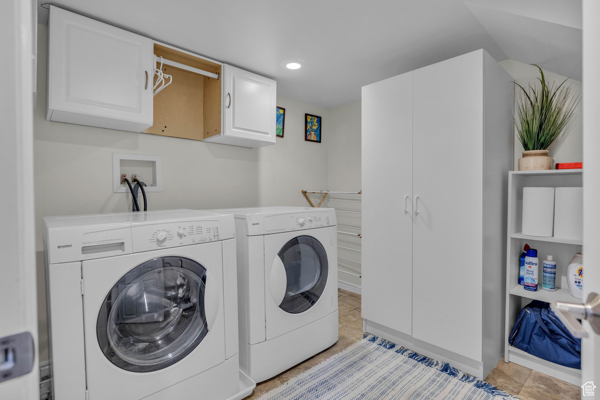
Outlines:
<svg viewBox="0 0 600 400"><path fill-rule="evenodd" d="M225 65L224 70L223 136L231 142L228 144L273 145L277 82L231 65Z"/></svg>

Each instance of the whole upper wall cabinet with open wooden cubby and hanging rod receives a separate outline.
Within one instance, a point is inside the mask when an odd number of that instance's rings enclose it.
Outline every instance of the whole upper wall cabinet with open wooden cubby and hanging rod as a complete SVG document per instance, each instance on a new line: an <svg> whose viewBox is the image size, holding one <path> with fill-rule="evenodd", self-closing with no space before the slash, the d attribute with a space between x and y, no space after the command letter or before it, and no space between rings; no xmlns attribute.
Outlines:
<svg viewBox="0 0 600 400"><path fill-rule="evenodd" d="M48 41L50 121L249 148L275 144L274 80L53 6ZM156 97L155 55L175 62L163 65L173 82Z"/></svg>

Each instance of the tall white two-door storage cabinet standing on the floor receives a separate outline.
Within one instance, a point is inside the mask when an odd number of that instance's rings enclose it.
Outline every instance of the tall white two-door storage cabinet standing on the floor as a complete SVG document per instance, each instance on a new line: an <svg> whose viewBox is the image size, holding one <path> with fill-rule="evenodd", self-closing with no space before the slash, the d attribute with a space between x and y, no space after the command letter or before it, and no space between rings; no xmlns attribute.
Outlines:
<svg viewBox="0 0 600 400"><path fill-rule="evenodd" d="M503 353L511 80L477 50L362 89L365 328L481 378Z"/></svg>

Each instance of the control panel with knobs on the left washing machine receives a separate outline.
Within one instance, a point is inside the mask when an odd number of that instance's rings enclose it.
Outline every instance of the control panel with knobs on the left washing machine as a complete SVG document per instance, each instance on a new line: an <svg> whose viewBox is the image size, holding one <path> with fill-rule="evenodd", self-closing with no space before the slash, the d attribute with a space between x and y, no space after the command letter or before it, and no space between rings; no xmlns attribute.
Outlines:
<svg viewBox="0 0 600 400"><path fill-rule="evenodd" d="M166 222L131 227L133 251L194 245L221 240L219 221Z"/></svg>

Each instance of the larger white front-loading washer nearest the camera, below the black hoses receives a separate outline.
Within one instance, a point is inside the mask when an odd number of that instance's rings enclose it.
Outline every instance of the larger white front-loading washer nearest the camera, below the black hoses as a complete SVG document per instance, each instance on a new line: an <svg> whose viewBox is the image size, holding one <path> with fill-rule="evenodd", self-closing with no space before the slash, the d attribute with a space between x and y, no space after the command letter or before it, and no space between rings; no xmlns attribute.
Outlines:
<svg viewBox="0 0 600 400"><path fill-rule="evenodd" d="M237 400L232 215L44 218L54 398Z"/></svg>

